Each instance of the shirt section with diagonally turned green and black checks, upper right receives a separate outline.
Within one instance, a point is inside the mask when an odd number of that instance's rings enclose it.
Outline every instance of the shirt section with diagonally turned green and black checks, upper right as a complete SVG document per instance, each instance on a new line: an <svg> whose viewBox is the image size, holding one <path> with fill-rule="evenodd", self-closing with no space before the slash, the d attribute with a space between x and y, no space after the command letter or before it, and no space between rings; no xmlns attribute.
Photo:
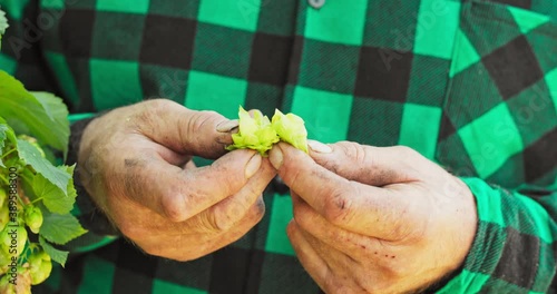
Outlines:
<svg viewBox="0 0 557 294"><path fill-rule="evenodd" d="M436 154L455 174L508 187L555 179L557 23L549 10L462 4Z"/></svg>

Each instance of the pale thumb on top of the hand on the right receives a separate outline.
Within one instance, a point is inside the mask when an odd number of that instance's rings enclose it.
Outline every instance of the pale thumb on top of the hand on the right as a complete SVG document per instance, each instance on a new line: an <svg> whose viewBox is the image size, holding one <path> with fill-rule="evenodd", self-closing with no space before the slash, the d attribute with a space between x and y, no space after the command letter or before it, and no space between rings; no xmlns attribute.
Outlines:
<svg viewBox="0 0 557 294"><path fill-rule="evenodd" d="M350 180L373 186L414 182L429 160L404 146L372 147L353 141L324 145L310 140L310 155L319 165Z"/></svg>

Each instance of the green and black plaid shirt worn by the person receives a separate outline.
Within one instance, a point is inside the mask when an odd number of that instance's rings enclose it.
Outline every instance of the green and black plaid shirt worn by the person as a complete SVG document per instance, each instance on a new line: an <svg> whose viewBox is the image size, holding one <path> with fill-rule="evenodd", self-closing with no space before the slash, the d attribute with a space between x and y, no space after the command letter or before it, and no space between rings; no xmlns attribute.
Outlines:
<svg viewBox="0 0 557 294"><path fill-rule="evenodd" d="M463 177L478 207L472 248L440 292L550 292L557 2L323 2L0 0L11 23L0 68L74 114L167 97L231 118L238 105L293 111L325 143L411 146ZM285 234L291 198L276 186L264 198L263 220L205 257L165 261L85 236L36 291L319 292Z"/></svg>

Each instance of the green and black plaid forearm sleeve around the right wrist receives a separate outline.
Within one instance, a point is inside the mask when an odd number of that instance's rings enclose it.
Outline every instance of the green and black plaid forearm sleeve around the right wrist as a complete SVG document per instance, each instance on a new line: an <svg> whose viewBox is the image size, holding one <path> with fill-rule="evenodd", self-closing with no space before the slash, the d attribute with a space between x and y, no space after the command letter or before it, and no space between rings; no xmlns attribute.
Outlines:
<svg viewBox="0 0 557 294"><path fill-rule="evenodd" d="M462 180L476 197L478 228L461 272L438 293L548 293L556 272L556 184L508 190Z"/></svg>

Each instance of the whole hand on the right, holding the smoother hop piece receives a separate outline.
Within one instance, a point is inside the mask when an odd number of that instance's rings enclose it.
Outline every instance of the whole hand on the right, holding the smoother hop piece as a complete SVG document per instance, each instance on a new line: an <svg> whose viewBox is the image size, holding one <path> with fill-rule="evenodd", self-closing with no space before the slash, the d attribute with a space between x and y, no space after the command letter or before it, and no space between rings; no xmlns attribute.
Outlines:
<svg viewBox="0 0 557 294"><path fill-rule="evenodd" d="M290 241L323 291L416 292L463 263L477 215L460 179L408 147L311 146L270 159L292 192Z"/></svg>

